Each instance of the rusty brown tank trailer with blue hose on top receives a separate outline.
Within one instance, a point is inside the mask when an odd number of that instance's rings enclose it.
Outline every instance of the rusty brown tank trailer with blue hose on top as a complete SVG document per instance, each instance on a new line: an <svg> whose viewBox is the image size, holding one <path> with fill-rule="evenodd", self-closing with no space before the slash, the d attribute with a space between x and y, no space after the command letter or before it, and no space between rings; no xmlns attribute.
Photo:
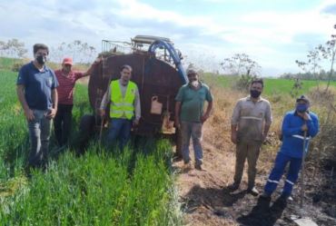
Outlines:
<svg viewBox="0 0 336 226"><path fill-rule="evenodd" d="M133 133L144 136L169 134L177 140L179 149L179 132L173 127L174 98L188 81L181 53L169 39L145 35L135 36L131 43L103 40L102 46L103 60L95 64L88 84L94 115L84 115L81 119L80 143L84 144L94 132L102 133L103 127L108 126L101 123L97 114L100 103L110 82L120 78L120 68L129 64L133 68L131 81L139 88L142 108L140 123L133 128ZM105 122L109 120L106 118Z"/></svg>

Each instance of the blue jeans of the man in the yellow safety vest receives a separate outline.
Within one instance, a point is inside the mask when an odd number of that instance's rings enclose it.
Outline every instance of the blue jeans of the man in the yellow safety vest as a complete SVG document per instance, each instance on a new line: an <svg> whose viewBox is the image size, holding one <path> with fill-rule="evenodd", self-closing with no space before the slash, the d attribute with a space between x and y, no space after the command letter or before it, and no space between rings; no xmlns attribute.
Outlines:
<svg viewBox="0 0 336 226"><path fill-rule="evenodd" d="M132 120L112 118L110 124L106 143L111 147L115 142L119 142L119 148L123 150L130 138Z"/></svg>

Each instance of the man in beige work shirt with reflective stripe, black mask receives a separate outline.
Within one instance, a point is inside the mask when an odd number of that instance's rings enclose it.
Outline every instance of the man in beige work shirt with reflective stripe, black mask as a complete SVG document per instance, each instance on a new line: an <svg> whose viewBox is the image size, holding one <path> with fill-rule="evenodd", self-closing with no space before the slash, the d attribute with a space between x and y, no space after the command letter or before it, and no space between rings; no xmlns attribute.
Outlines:
<svg viewBox="0 0 336 226"><path fill-rule="evenodd" d="M247 158L249 165L247 191L252 195L259 194L254 187L256 164L262 142L266 139L272 123L271 104L260 96L262 89L262 79L252 81L250 95L236 103L231 122L231 140L236 144L236 164L234 182L229 189L234 191L239 188Z"/></svg>

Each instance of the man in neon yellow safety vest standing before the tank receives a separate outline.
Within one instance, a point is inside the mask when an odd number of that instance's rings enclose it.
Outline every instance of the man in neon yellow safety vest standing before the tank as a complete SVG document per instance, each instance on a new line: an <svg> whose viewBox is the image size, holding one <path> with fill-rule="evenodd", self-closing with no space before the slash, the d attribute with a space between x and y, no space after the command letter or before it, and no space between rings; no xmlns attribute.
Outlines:
<svg viewBox="0 0 336 226"><path fill-rule="evenodd" d="M141 117L140 95L136 84L130 81L132 67L124 65L120 71L121 77L107 87L100 107L100 115L104 117L108 103L110 105L110 129L107 134L107 145L119 142L119 148L124 149L128 142L133 125L139 123Z"/></svg>

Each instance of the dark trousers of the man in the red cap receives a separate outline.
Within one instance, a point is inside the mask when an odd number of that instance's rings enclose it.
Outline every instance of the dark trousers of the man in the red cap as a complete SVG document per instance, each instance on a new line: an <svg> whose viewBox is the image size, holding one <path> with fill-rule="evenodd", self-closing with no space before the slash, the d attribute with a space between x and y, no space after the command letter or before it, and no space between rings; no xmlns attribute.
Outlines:
<svg viewBox="0 0 336 226"><path fill-rule="evenodd" d="M72 104L58 104L57 107L57 113L54 117L54 135L60 146L65 145L70 136L73 106Z"/></svg>

